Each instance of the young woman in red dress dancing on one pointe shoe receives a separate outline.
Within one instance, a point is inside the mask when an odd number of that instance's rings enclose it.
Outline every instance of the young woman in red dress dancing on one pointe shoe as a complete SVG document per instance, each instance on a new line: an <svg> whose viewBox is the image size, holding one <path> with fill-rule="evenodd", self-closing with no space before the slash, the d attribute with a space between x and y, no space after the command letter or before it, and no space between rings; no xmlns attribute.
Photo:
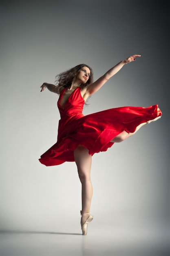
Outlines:
<svg viewBox="0 0 170 256"><path fill-rule="evenodd" d="M145 124L161 117L158 105L148 108L121 107L84 116L83 106L89 96L97 92L110 77L125 64L135 61L132 55L119 62L93 83L93 71L85 64L62 72L57 76L57 85L43 83L41 92L48 88L60 94L57 106L60 111L57 143L39 159L46 166L75 161L82 183L82 234L87 234L93 187L91 184L91 160L94 153L106 151L115 142L134 135Z"/></svg>

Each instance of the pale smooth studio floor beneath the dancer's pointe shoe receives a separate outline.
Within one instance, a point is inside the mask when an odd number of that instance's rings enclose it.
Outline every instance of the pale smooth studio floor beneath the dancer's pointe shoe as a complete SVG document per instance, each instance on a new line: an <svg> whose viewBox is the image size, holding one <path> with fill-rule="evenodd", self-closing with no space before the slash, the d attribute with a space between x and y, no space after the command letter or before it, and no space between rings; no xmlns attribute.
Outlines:
<svg viewBox="0 0 170 256"><path fill-rule="evenodd" d="M168 227L88 225L87 236L74 227L50 231L1 231L0 256L169 256ZM77 230L76 230L77 231Z"/></svg>

